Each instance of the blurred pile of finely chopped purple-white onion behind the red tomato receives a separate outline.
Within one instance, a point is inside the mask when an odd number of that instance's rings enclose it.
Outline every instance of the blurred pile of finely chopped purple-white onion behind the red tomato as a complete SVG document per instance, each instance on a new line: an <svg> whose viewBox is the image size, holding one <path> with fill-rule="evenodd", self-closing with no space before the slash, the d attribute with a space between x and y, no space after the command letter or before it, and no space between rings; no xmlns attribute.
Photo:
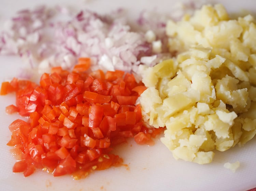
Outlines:
<svg viewBox="0 0 256 191"><path fill-rule="evenodd" d="M165 35L169 15L142 11L140 27L131 30L124 13L99 15L62 6L21 10L0 33L0 55L18 55L39 73L54 66L72 69L79 57L90 57L92 69L136 73L141 64L171 57Z"/></svg>

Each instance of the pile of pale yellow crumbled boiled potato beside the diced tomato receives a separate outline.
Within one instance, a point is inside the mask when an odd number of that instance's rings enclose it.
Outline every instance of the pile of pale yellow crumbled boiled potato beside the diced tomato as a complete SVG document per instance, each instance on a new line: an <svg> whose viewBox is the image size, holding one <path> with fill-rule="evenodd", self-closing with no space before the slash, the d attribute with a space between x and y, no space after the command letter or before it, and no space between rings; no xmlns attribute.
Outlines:
<svg viewBox="0 0 256 191"><path fill-rule="evenodd" d="M161 141L175 159L210 163L214 150L243 145L256 134L256 25L229 19L221 4L169 21L173 59L147 68L143 118L166 126Z"/></svg>

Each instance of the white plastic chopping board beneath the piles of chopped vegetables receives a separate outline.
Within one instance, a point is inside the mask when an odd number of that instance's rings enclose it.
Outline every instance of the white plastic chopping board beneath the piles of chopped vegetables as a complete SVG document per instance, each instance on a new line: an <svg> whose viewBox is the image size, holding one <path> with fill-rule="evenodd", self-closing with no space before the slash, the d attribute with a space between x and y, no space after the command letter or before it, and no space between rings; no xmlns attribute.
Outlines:
<svg viewBox="0 0 256 191"><path fill-rule="evenodd" d="M118 7L127 8L136 17L143 9L158 7L168 11L175 0L2 0L0 22L22 8L38 4L83 5L99 13L108 13ZM207 1L206 1L207 2ZM219 0L230 13L242 9L254 11L254 0ZM146 6L145 6L146 5ZM137 15L136 15L137 14ZM22 61L16 57L0 56L0 83L16 76ZM73 180L71 176L53 177L37 171L24 178L22 173L12 173L15 159L11 147L6 143L11 138L9 124L18 115L6 115L5 107L15 103L14 95L0 97L0 190L2 191L175 191L175 190L220 190L246 191L256 187L256 138L243 147L234 147L226 152L216 152L210 164L199 165L175 160L168 149L158 140L154 146L137 145L134 141L119 146L116 154L124 159L128 167L96 171L87 178ZM240 161L236 173L223 167L226 162Z"/></svg>

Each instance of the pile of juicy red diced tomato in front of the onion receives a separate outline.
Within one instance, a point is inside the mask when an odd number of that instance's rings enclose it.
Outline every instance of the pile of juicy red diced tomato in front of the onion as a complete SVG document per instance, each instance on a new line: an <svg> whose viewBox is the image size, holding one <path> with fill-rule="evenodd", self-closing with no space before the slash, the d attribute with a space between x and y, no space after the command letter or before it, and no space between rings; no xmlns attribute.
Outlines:
<svg viewBox="0 0 256 191"><path fill-rule="evenodd" d="M9 129L9 146L18 156L13 172L31 175L44 169L54 176L72 174L75 179L94 170L122 165L113 147L134 137L138 144L153 144L162 128L147 128L142 121L139 95L146 89L124 71L88 72L89 58L80 58L72 72L60 67L44 73L40 85L14 78L3 82L1 95L16 93L16 104L6 112L18 112Z"/></svg>

